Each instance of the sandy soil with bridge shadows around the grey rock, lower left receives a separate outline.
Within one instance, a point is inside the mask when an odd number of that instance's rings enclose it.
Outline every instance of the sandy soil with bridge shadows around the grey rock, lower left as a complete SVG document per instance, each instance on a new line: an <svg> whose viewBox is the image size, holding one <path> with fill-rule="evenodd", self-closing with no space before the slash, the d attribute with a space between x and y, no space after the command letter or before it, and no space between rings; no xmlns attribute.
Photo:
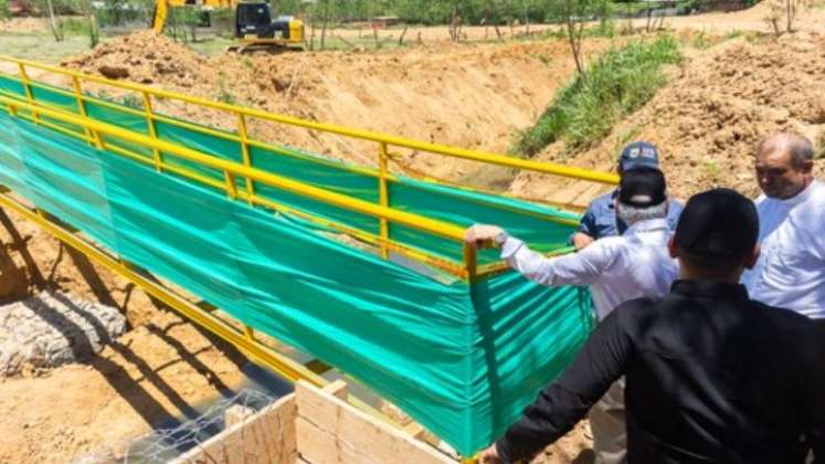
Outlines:
<svg viewBox="0 0 825 464"><path fill-rule="evenodd" d="M60 289L119 308L134 328L88 363L0 378L0 462L64 463L117 446L240 382L244 359L233 348L34 223L10 211L0 222L2 303Z"/></svg>

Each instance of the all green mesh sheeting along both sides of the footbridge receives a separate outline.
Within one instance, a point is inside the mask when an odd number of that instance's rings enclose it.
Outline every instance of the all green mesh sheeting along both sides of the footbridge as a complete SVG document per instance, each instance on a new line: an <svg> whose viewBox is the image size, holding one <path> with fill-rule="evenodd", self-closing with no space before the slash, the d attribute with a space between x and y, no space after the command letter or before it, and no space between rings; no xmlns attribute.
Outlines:
<svg viewBox="0 0 825 464"><path fill-rule="evenodd" d="M0 80L0 87L22 92L13 81ZM38 97L49 98L44 94ZM54 105L71 109L57 98ZM129 123L133 115L108 109L99 113L104 122L141 130ZM294 218L231 201L211 187L0 110L0 183L125 260L359 379L463 455L498 436L590 331L591 303L582 288L541 287L511 272L473 286L445 283ZM165 130L181 145L240 156L205 136ZM348 166L286 148L253 157L262 169L377 199L376 179ZM297 208L377 230L374 219L256 187ZM571 232L547 221L549 214L570 217L554 210L410 179L393 182L390 197L394 208L459 224L504 224L544 249L563 246ZM455 243L399 226L392 232L403 243L461 256Z"/></svg>

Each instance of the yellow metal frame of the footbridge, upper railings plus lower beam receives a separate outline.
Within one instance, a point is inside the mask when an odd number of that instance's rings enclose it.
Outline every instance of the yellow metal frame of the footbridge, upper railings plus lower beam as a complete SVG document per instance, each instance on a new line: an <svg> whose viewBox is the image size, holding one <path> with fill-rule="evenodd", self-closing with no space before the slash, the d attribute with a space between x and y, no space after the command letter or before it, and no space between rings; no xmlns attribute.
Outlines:
<svg viewBox="0 0 825 464"><path fill-rule="evenodd" d="M596 172L581 168L571 168L560 165L552 165L547 162L538 162L532 160L518 159L507 157L503 155L479 152L473 150L465 150L461 148L447 147L444 145L430 144L423 141L411 140L402 137L388 136L383 134L351 129L329 124L315 123L309 120L303 120L290 116L275 115L256 109L244 108L234 105L228 105L223 103L210 102L202 98L191 97L182 94L177 94L167 91L160 91L152 87L121 83L110 81L104 77L94 75L87 75L77 73L74 71L63 70L54 66L43 65L25 60L17 60L6 56L0 56L0 63L13 63L17 65L19 72L19 78L24 89L24 98L19 96L11 96L8 93L0 92L0 105L7 107L9 114L14 117L25 118L34 124L49 127L53 130L60 131L64 135L68 135L82 140L87 141L92 146L98 149L106 149L110 152L115 152L120 156L128 157L130 159L149 164L155 167L158 172L173 172L197 180L201 183L211 186L216 189L224 190L226 196L233 200L246 201L250 205L263 205L266 208L274 209L276 211L284 211L292 214L296 214L304 219L308 219L316 223L320 223L326 226L330 226L335 230L350 234L359 240L363 240L379 247L380 254L383 259L389 259L390 252L401 253L416 261L429 264L433 267L441 268L449 272L470 284L470 288L478 278L486 275L499 273L504 270L501 263L493 263L479 266L477 263L477 250L463 242L464 228L456 224L434 220L420 214L409 213L400 211L390 207L389 198L389 182L398 181L399 178L389 172L388 161L391 159L390 148L400 147L415 151L425 151L436 154L446 157L461 158L466 160L473 160L489 165L505 166L510 168L531 170L536 172L542 172L548 175L563 176L569 178L575 178L586 181L601 182L606 184L617 183L618 178L615 175ZM72 89L65 91L59 87L52 87L45 84L41 84L32 81L29 77L27 67L38 68L64 75L71 78ZM92 82L97 84L109 85L118 87L125 91L135 92L140 95L142 99L142 110L126 108L120 105L116 105L110 102L106 102L101 98L95 98L83 93L82 83ZM38 102L33 96L33 87L44 87L50 91L62 93L66 96L71 96L76 101L77 113L54 108L46 106ZM198 126L191 123L186 123L162 115L158 115L152 110L154 98L169 98L183 102L187 104L193 104L202 107L212 109L219 109L231 113L236 117L236 129L235 134L224 133L208 127ZM118 110L133 113L140 115L146 118L148 134L139 134L130 131L107 123L88 117L86 110L86 103L94 102L103 106L115 107ZM373 141L378 145L378 169L348 167L352 171L366 173L372 176L378 182L379 202L378 204L350 198L340 193L336 193L329 190L320 189L307 183L298 182L283 176L277 176L272 172L267 172L254 167L253 160L251 159L250 147L264 147L271 148L266 144L254 140L248 136L248 118L257 118L266 122L285 124L296 127L303 127L309 130L318 130L328 134L335 134L339 136L362 139ZM52 120L61 122L75 126L82 129L82 133L77 133L66 127L62 127L57 124L53 124ZM179 127L187 127L190 129L198 130L203 134L218 136L224 139L233 140L240 144L242 151L242 162L226 161L218 157L207 155L184 146L176 145L163 139L158 138L156 122L162 122L167 124L177 125ZM130 144L138 145L151 151L151 158L140 155L135 151L130 151L124 147L112 144L113 140L121 140ZM216 181L193 172L192 170L173 166L167 162L162 154L174 155L176 157L193 161L200 166L222 171L224 173L224 181ZM288 155L284 155L288 156ZM318 160L318 162L325 162ZM336 165L337 166L337 165ZM239 189L237 178L243 178L245 181L245 188ZM332 221L324 220L321 218L314 217L304 211L296 210L283 204L277 204L268 199L264 199L255 194L254 183L261 182L263 184L273 186L282 190L305 197L315 199L327 204L332 204L339 208L355 211L366 215L377 218L379 220L379 234L378 236L370 234L364 231L356 230L353 228L346 226L345 224L335 223ZM0 186L1 187L1 186ZM472 190L472 189L469 189ZM126 278L135 282L141 289L148 294L157 297L165 304L169 305L180 314L184 315L192 321L203 326L215 335L224 338L229 342L237 346L243 351L247 352L252 358L266 365L274 371L284 376L289 380L307 379L315 384L324 384L325 380L320 378L313 369L307 366L303 366L293 361L292 359L275 352L271 347L266 347L255 339L254 330L248 326L243 326L243 329L237 329L222 320L209 312L199 308L192 303L183 299L182 297L174 295L162 285L147 278L147 275L135 270L130 264L118 261L116 257L110 256L104 251L101 251L95 245L82 240L81 238L72 234L66 229L62 228L59 223L53 222L49 214L30 210L22 203L15 201L12 197L7 194L0 194L0 205L11 208L27 219L36 222L44 230L55 235L57 239L75 247L80 252L86 254L93 261L107 267L108 270L116 272ZM522 213L529 213L522 211ZM543 214L538 214L548 220L553 220L563 223L575 223L575 221L563 220L559 218L551 218ZM401 224L413 228L424 233L445 238L458 243L463 246L463 262L456 263L449 260L434 256L422 250L416 250L412 246L394 242L390 238L391 225ZM564 251L561 251L564 252ZM558 254L556 252L554 254ZM311 363L311 361L310 361ZM369 410L369 407L368 407ZM374 411L373 411L374 412ZM374 412L378 416L382 414ZM383 416L382 416L383 418ZM384 418L384 420L387 420Z"/></svg>

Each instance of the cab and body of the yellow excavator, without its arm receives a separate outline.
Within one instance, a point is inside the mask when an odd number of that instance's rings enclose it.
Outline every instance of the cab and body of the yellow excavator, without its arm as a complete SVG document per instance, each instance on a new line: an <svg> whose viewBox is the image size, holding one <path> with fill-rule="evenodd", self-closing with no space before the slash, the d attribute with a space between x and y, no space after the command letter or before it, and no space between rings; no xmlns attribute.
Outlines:
<svg viewBox="0 0 825 464"><path fill-rule="evenodd" d="M242 2L235 7L235 38L250 44L300 43L304 23L288 17L273 21L269 3Z"/></svg>

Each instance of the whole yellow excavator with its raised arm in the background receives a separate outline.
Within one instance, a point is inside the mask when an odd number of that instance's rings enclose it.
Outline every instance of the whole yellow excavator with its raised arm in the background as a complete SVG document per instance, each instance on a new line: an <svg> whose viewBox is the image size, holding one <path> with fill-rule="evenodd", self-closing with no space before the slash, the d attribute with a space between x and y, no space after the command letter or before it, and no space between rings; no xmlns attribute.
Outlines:
<svg viewBox="0 0 825 464"><path fill-rule="evenodd" d="M200 8L212 10L231 8L235 12L234 33L239 45L230 50L244 51L251 48L285 48L304 42L304 22L292 17L273 19L269 3L237 0L159 0L155 6L152 29L162 33L172 8Z"/></svg>

